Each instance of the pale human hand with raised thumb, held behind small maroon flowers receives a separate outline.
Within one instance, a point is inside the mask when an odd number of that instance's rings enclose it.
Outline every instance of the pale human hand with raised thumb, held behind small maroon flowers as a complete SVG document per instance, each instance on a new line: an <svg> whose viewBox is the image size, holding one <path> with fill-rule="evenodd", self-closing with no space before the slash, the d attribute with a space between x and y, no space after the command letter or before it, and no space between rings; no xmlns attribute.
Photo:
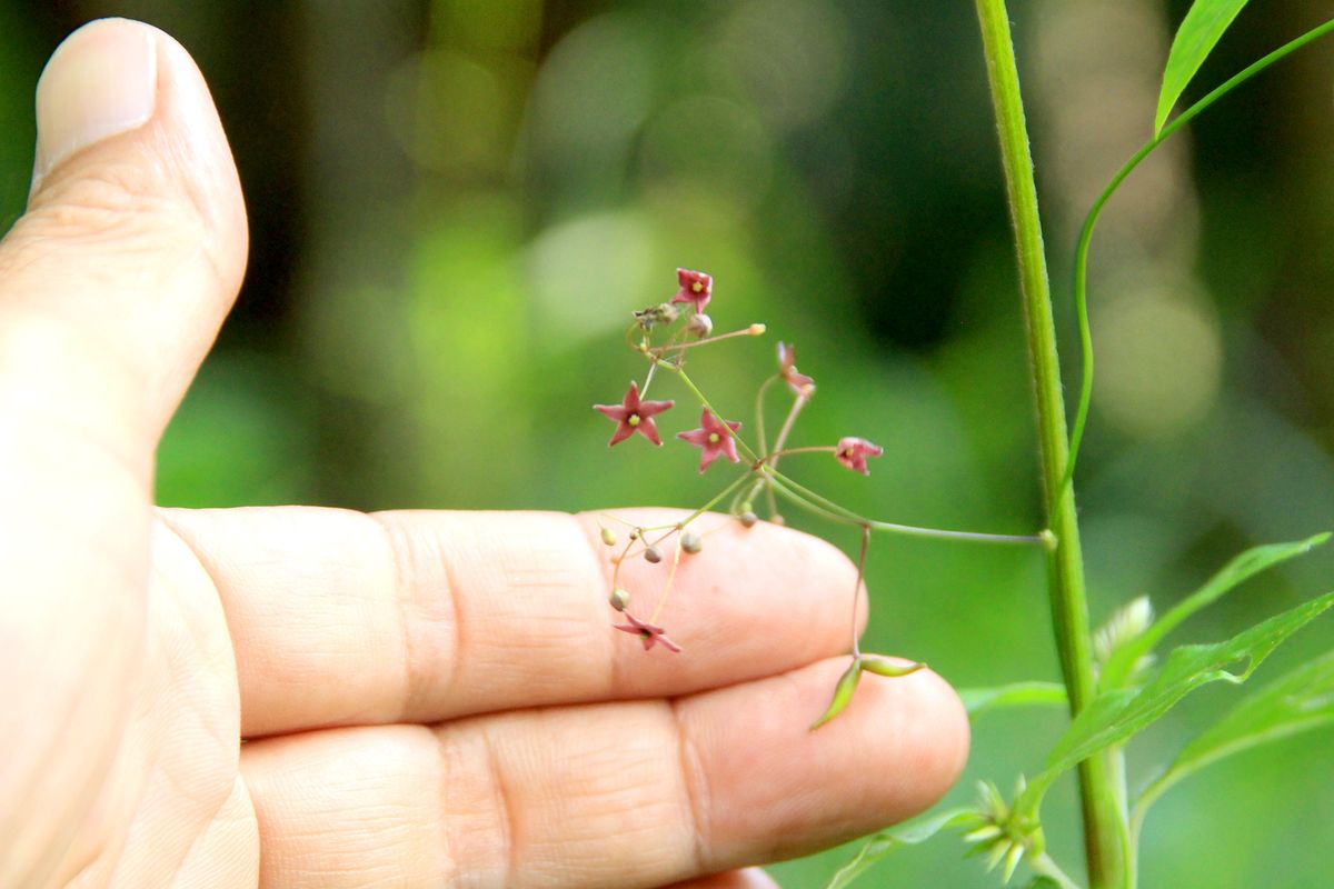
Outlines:
<svg viewBox="0 0 1334 889"><path fill-rule="evenodd" d="M37 108L0 243L0 886L766 886L732 869L958 777L928 672L807 732L855 577L815 538L711 534L675 656L611 630L590 517L155 509L244 271L236 172L145 25L76 32Z"/></svg>

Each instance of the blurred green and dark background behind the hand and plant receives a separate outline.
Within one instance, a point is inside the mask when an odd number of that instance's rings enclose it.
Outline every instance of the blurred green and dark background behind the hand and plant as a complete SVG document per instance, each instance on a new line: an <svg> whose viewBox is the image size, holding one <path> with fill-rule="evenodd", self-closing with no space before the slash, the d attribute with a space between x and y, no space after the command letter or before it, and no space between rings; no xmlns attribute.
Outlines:
<svg viewBox="0 0 1334 889"><path fill-rule="evenodd" d="M1149 136L1187 5L1011 4L1070 371L1074 233ZM1323 5L1251 4L1201 87ZM0 0L0 231L23 211L41 65L105 15L157 24L195 55L251 213L240 301L161 446L163 502L698 504L723 470L700 478L684 446L608 452L588 409L640 372L628 312L667 299L686 265L715 275L720 328L768 324L763 341L698 359L724 412L748 413L774 341L796 341L819 393L794 443L886 448L870 480L832 461L788 470L887 520L1038 528L967 0ZM1331 84L1334 44L1303 51L1198 121L1103 217L1078 477L1095 621L1141 593L1162 609L1238 548L1334 525ZM1267 574L1181 636L1230 634L1323 592L1331 568L1325 552ZM871 649L959 685L1057 677L1035 554L876 540L870 580ZM1258 680L1327 648L1327 620ZM1131 781L1243 693L1189 698L1131 750ZM1034 772L1061 724L982 721L952 798ZM1330 741L1303 736L1182 785L1149 820L1143 885L1329 885ZM1047 814L1077 872L1071 786ZM863 885L992 885L959 850L904 850ZM848 854L774 873L816 886Z"/></svg>

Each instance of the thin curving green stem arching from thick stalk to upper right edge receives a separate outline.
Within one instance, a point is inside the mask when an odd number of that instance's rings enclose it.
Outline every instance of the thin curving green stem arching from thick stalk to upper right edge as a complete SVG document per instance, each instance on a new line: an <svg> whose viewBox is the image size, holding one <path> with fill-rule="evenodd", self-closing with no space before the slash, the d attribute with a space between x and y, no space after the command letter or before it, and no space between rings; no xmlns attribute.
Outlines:
<svg viewBox="0 0 1334 889"><path fill-rule="evenodd" d="M1163 127L1162 132L1145 143L1145 147L1135 152L1135 155L1127 160L1119 171L1117 171L1117 175L1111 177L1110 183L1107 183L1107 188L1102 189L1102 195L1098 196L1098 200L1095 200L1093 207L1089 209L1089 216L1085 217L1083 228L1079 232L1079 243L1075 247L1074 283L1075 315L1078 316L1079 324L1079 351L1083 356L1083 379L1079 384L1079 407L1075 409L1074 431L1070 436L1070 460L1066 462L1066 472L1061 482L1062 488L1065 488L1074 477L1075 460L1079 457L1079 444L1083 441L1085 424L1089 421L1089 405L1093 401L1093 333L1089 327L1089 245L1093 241L1093 229L1098 224L1098 217L1102 215L1103 207L1107 205L1111 196L1118 188L1121 188L1121 184L1126 181L1126 177L1130 176L1130 173L1133 173L1135 168L1154 152L1155 148L1167 141L1173 133L1203 113L1210 105L1230 93L1233 89L1273 65L1275 61L1297 52L1314 40L1319 40L1331 31L1334 31L1334 20L1326 21L1318 28L1307 31L1301 37L1283 44L1263 59L1247 65L1233 77L1225 80L1217 89L1211 91L1207 96L1183 111L1173 119L1170 124Z"/></svg>

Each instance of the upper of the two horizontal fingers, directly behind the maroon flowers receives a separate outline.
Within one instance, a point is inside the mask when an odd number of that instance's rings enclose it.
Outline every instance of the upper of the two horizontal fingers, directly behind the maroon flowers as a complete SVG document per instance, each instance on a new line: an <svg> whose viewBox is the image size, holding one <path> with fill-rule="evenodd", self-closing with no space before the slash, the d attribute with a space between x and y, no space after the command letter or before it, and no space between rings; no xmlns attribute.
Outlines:
<svg viewBox="0 0 1334 889"><path fill-rule="evenodd" d="M607 604L612 552L595 516L160 514L217 588L247 737L686 694L850 645L851 562L822 540L763 522L746 529L704 516L691 526L714 530L682 558L654 621L683 646L676 654L614 629L626 618ZM666 525L686 513L623 514ZM640 618L652 614L670 553L656 565L632 558L622 572Z"/></svg>

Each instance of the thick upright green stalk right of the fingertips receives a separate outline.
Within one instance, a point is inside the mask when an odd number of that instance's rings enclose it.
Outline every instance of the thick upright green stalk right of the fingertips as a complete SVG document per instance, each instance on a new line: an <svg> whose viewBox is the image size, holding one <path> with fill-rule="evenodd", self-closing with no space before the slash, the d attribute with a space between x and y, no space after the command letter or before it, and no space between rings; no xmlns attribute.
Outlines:
<svg viewBox="0 0 1334 889"><path fill-rule="evenodd" d="M1051 550L1047 565L1051 621L1074 714L1093 700L1095 685L1074 485L1062 484L1069 458L1069 433L1061 395L1057 331L1051 317L1051 285L1042 245L1038 191L1033 177L1033 153L1019 95L1010 19L1005 0L976 0L976 7L991 103L1000 136L1000 163L1014 228L1019 287L1023 292L1047 526L1057 536L1057 546ZM1079 790L1089 882L1093 889L1121 886L1126 866L1122 842L1125 834L1106 756L1094 757L1079 766Z"/></svg>

